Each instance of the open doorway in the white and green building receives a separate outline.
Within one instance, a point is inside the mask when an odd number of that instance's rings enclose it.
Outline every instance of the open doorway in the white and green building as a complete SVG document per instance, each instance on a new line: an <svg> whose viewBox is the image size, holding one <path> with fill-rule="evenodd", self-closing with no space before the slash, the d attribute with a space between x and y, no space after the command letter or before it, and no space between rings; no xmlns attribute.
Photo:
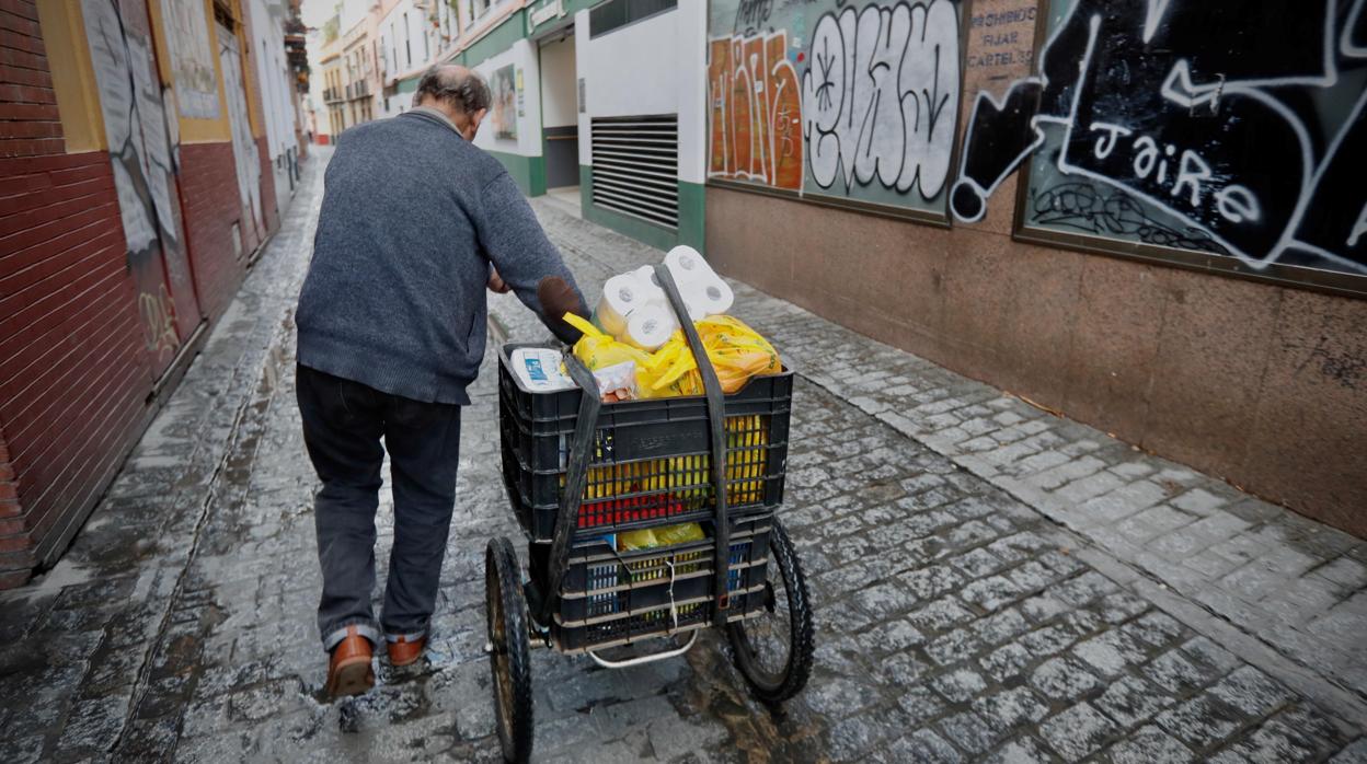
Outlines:
<svg viewBox="0 0 1367 764"><path fill-rule="evenodd" d="M574 59L574 25L541 42L541 135L545 156L545 187L555 193L580 186L578 70Z"/></svg>

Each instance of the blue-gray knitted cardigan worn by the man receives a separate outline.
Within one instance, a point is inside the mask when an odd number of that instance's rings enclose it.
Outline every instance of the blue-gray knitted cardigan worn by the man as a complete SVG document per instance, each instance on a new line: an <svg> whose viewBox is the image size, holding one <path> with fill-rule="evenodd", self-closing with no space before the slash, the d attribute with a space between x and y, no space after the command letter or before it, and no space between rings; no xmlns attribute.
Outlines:
<svg viewBox="0 0 1367 764"><path fill-rule="evenodd" d="M543 321L539 282L574 284L498 160L424 111L343 133L324 175L295 323L299 364L466 405L484 357L489 262Z"/></svg>

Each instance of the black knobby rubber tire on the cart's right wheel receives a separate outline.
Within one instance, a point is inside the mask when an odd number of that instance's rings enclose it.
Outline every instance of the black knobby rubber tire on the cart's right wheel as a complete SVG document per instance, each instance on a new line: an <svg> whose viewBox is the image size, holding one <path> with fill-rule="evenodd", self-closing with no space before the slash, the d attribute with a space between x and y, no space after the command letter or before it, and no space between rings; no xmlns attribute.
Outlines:
<svg viewBox="0 0 1367 764"><path fill-rule="evenodd" d="M774 605L778 603L771 603L771 615L726 625L735 668L745 677L755 697L768 704L783 702L802 692L807 679L812 675L812 652L816 642L812 627L812 604L807 595L807 578L802 575L802 566L797 559L793 541L789 540L787 532L783 530L778 518L774 518L774 529L770 532L768 579L772 582L775 575L782 581L783 592L774 596L782 596L786 600L789 612L787 657L783 666L774 671L760 666L746 633L746 629L755 629L756 622L774 618Z"/></svg>

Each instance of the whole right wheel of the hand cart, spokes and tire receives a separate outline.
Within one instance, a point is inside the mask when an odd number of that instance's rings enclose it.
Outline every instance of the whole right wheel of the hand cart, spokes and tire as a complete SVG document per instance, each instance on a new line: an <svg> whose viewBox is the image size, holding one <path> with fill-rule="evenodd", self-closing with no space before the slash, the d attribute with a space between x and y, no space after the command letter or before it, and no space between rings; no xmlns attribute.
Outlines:
<svg viewBox="0 0 1367 764"><path fill-rule="evenodd" d="M755 697L783 702L807 685L812 672L812 605L797 551L774 518L763 615L727 625L735 667Z"/></svg>

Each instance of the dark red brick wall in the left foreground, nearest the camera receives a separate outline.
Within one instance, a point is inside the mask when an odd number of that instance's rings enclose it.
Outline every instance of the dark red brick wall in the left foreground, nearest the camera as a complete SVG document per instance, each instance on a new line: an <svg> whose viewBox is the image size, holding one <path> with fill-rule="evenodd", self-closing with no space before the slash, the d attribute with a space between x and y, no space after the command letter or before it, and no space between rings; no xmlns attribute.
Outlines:
<svg viewBox="0 0 1367 764"><path fill-rule="evenodd" d="M152 387L109 157L64 153L37 19L0 1L0 588L83 519Z"/></svg>

